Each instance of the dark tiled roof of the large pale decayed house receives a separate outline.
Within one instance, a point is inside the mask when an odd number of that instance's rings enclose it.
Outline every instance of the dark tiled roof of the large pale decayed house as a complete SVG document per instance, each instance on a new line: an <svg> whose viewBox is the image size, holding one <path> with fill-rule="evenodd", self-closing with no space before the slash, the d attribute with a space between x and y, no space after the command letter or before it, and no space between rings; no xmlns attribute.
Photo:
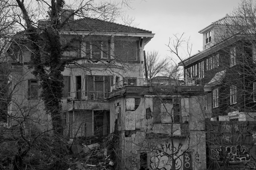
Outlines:
<svg viewBox="0 0 256 170"><path fill-rule="evenodd" d="M84 17L65 24L62 30L71 31L101 31L101 32L125 32L125 33L152 33L152 31L126 26L100 19Z"/></svg>

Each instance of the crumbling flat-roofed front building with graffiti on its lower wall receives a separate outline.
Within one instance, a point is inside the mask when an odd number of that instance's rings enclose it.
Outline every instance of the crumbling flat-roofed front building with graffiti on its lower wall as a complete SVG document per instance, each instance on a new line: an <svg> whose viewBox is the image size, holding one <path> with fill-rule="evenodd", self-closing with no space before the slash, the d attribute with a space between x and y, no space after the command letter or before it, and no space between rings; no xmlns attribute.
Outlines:
<svg viewBox="0 0 256 170"><path fill-rule="evenodd" d="M125 86L109 101L122 167L172 169L175 159L176 170L206 169L203 86Z"/></svg>

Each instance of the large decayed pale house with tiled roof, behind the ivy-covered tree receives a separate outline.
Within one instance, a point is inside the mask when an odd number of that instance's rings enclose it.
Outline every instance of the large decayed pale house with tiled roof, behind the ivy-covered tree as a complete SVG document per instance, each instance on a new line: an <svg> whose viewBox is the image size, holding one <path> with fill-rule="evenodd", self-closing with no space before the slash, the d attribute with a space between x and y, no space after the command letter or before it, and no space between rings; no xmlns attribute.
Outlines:
<svg viewBox="0 0 256 170"><path fill-rule="evenodd" d="M44 24L47 22L40 21L38 26ZM109 134L107 98L113 84L142 83L139 78L143 76L143 49L154 34L99 19L71 18L60 35L63 58L74 59L62 72L64 133L71 138ZM18 38L25 39L22 33ZM47 131L51 129L51 117L39 98L40 82L29 68L30 44L22 43L13 44L8 51L11 58L8 83L12 94L8 127L22 125L28 134L38 128Z"/></svg>

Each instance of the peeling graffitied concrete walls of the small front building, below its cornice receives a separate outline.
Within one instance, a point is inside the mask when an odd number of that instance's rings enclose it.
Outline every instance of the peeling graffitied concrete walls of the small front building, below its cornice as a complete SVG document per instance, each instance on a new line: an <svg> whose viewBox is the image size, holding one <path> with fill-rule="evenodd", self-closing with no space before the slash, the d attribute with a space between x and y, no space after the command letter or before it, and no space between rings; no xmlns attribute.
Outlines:
<svg viewBox="0 0 256 170"><path fill-rule="evenodd" d="M114 110L118 108L117 103L121 105L118 130L122 132L120 146L123 166L131 170L140 169L142 166L140 155L146 153L147 165L144 167L150 170L171 169L172 157L177 158L177 170L184 170L185 166L192 167L193 170L206 169L206 136L202 110L204 109L204 96L181 97L180 99L181 122L188 122L189 138L182 137L181 124L169 123L170 117L166 115L161 117L165 123L154 123L154 96L140 97L139 105L135 104L135 99L138 100L138 97L136 95L122 96L110 102L110 113L115 113ZM165 96L165 98L168 97ZM165 106L167 112L172 110L172 103L167 102ZM161 109L162 107L161 105ZM152 114L146 118L147 108L150 108ZM110 122L114 122L117 113L110 116ZM172 128L173 136L170 136ZM114 131L113 123L110 131ZM171 139L173 139L175 153L173 156Z"/></svg>

